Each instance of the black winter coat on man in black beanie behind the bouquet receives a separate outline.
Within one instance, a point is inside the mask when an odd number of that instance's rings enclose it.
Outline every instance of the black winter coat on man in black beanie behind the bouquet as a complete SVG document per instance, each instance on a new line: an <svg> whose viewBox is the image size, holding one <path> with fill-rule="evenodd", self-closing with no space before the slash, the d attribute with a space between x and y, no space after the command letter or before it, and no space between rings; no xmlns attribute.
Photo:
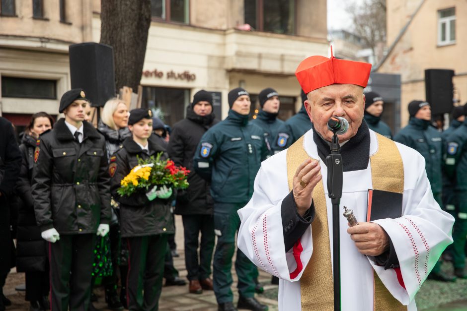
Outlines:
<svg viewBox="0 0 467 311"><path fill-rule="evenodd" d="M202 179L193 169L193 158L196 147L203 134L213 125L219 123L214 115L198 116L191 106L187 107L186 119L173 125L167 152L175 165L190 170L186 190L178 191L175 214L203 215L212 214L214 201L210 194L209 182Z"/></svg>

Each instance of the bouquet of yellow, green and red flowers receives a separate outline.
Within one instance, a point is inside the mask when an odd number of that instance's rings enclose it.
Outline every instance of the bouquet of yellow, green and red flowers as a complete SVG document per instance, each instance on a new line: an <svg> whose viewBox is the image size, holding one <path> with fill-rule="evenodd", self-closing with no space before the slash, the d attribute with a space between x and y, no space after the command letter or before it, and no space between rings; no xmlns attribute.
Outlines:
<svg viewBox="0 0 467 311"><path fill-rule="evenodd" d="M138 165L120 182L118 194L130 196L137 190L150 190L154 186L172 187L174 190L186 189L189 186L186 179L190 171L185 167L176 166L170 159L161 160L161 155L162 152L147 160L138 158Z"/></svg>

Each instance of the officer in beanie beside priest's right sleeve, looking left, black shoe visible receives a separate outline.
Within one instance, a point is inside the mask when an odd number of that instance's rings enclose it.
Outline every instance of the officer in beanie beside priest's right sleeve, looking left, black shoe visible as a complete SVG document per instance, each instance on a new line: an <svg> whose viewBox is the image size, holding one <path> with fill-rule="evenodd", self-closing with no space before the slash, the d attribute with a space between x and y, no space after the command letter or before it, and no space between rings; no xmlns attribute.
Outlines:
<svg viewBox="0 0 467 311"><path fill-rule="evenodd" d="M413 100L408 104L408 111L409 124L394 136L394 141L417 150L425 158L426 175L430 181L433 196L438 204L443 206L441 199L443 139L441 133L430 125L431 107L429 103ZM441 272L440 262L435 265L428 278L444 282L456 280L455 277Z"/></svg>

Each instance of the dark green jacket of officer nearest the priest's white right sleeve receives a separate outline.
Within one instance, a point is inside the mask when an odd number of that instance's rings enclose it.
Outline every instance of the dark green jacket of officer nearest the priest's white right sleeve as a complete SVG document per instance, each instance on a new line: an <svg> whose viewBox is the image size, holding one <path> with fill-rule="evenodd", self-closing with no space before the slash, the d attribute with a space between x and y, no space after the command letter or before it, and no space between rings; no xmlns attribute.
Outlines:
<svg viewBox="0 0 467 311"><path fill-rule="evenodd" d="M431 126L429 121L411 118L409 124L394 136L394 140L417 150L425 158L425 170L431 184L431 190L441 205L443 161L441 133Z"/></svg>

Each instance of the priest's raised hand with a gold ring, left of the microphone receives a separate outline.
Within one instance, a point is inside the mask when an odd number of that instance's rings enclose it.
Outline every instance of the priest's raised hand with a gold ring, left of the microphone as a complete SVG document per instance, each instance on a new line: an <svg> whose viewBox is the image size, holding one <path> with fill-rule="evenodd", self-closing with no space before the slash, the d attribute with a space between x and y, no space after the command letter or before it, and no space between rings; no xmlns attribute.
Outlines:
<svg viewBox="0 0 467 311"><path fill-rule="evenodd" d="M307 159L295 172L292 191L300 216L305 215L311 206L313 189L322 177L320 170L321 166L318 161Z"/></svg>

